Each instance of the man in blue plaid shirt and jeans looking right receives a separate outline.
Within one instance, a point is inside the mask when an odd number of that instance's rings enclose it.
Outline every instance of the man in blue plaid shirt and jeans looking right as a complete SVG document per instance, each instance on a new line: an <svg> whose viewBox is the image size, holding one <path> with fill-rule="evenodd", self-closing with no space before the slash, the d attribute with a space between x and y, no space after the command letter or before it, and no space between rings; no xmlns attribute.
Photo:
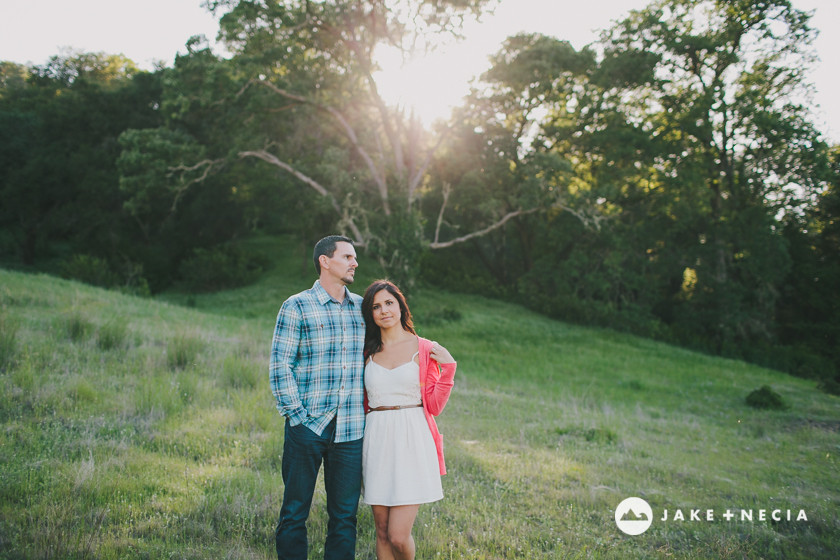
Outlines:
<svg viewBox="0 0 840 560"><path fill-rule="evenodd" d="M313 258L319 278L283 303L271 345L271 390L286 417L279 560L307 557L306 520L321 462L329 514L324 558L351 559L356 552L365 324L362 298L347 286L358 263L352 240L337 235L319 241Z"/></svg>

